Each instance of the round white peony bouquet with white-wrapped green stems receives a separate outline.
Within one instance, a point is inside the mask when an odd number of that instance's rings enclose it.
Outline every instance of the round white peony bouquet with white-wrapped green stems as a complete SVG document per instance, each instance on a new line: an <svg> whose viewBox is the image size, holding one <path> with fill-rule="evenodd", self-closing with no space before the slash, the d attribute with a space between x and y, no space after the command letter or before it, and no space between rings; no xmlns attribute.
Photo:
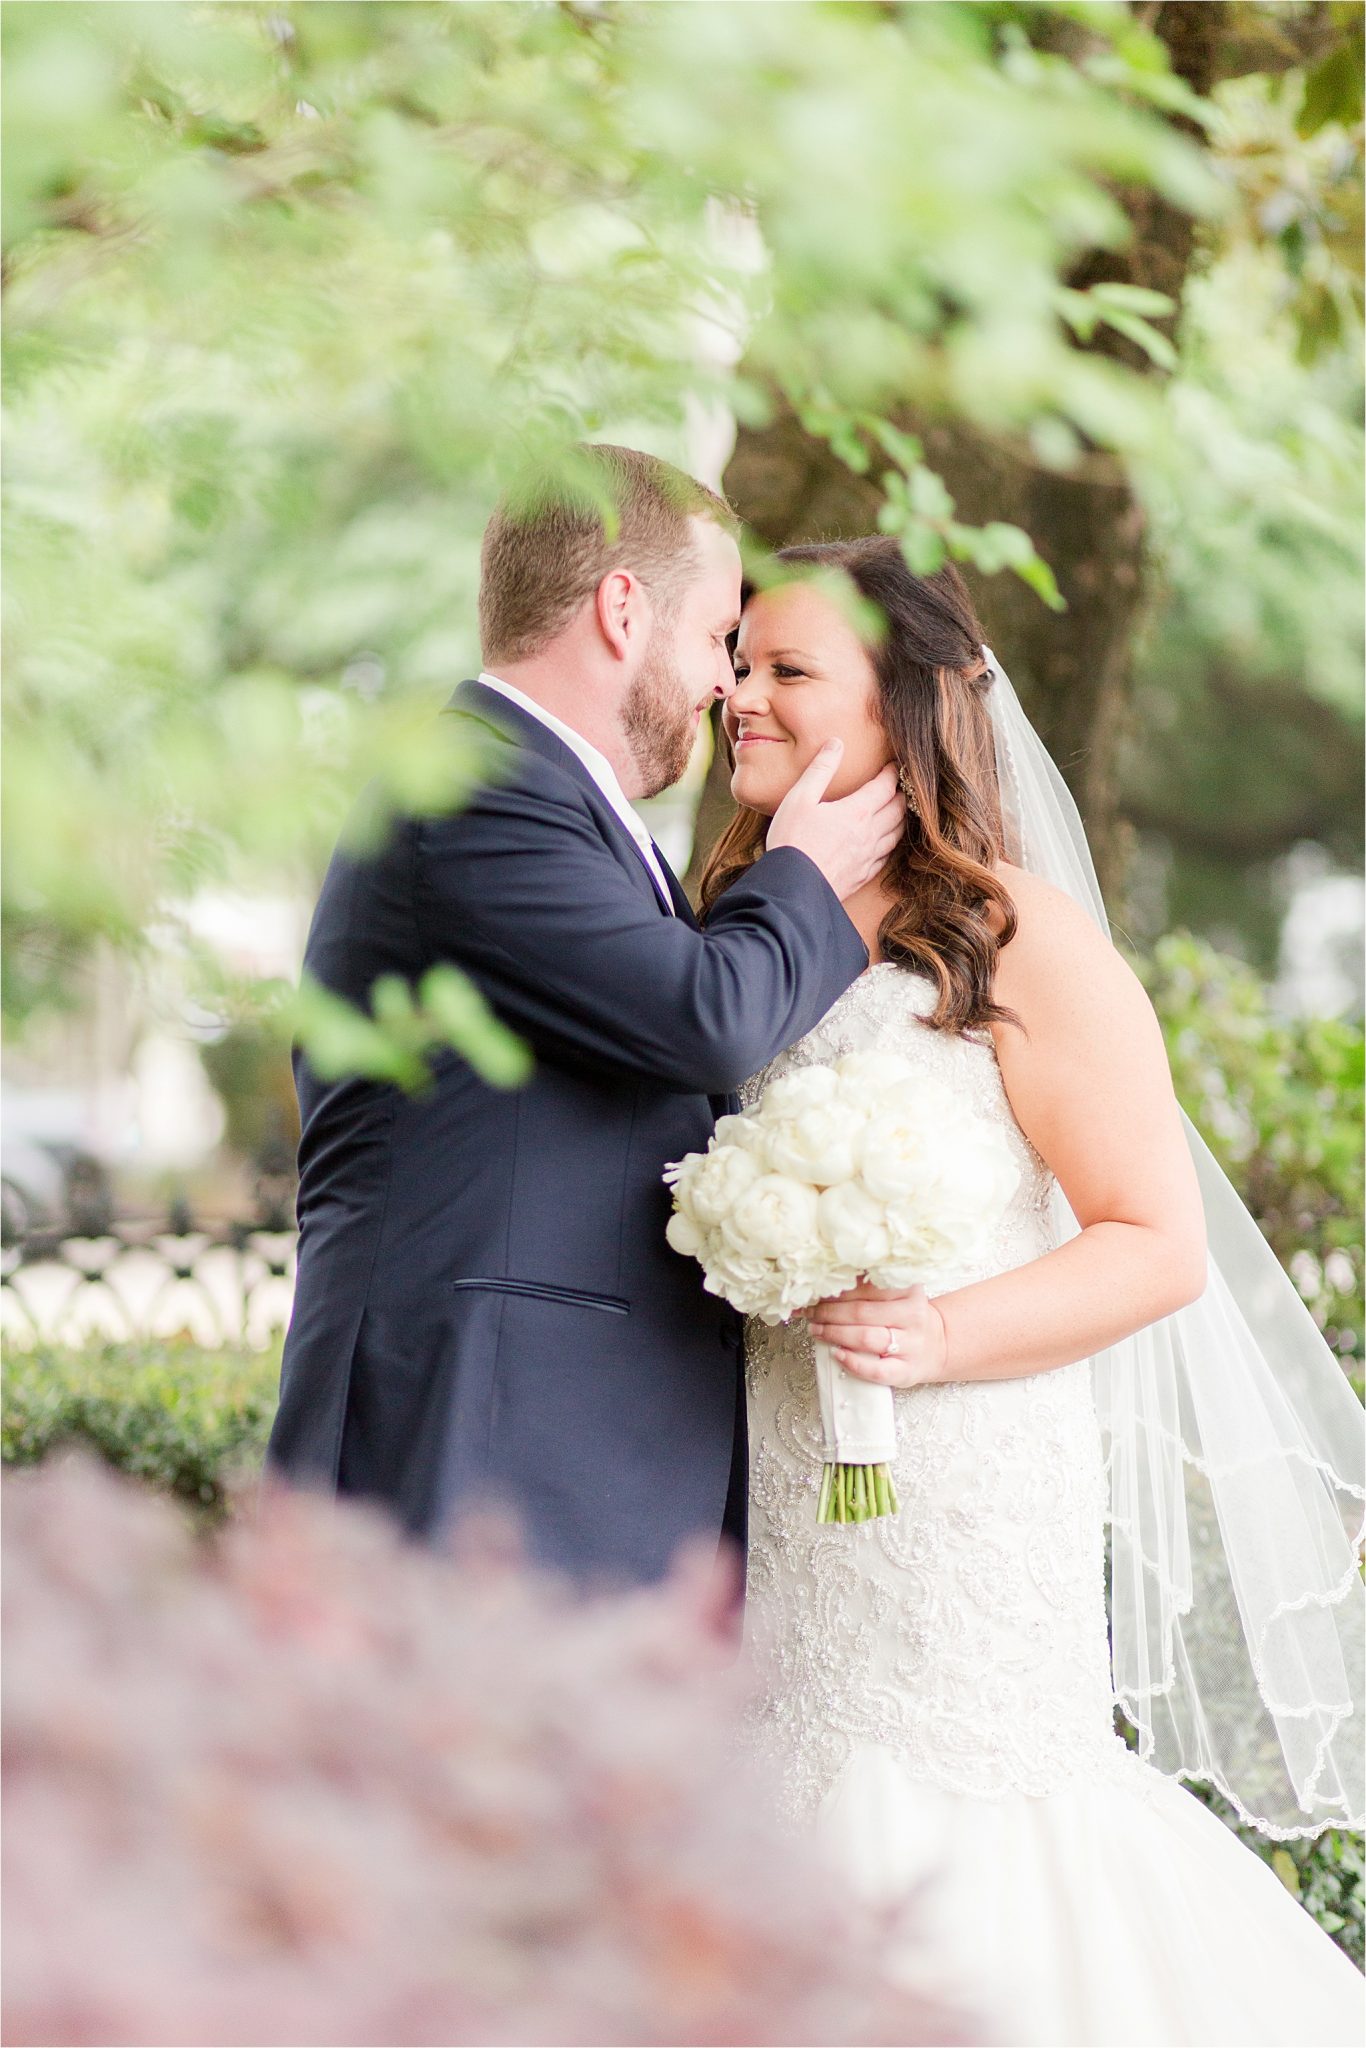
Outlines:
<svg viewBox="0 0 1366 2048"><path fill-rule="evenodd" d="M784 1073L705 1153L666 1171L668 1239L743 1315L786 1323L858 1280L930 1286L973 1264L1018 1167L997 1124L897 1053L850 1053ZM897 1511L891 1386L815 1346L825 1434L819 1522Z"/></svg>

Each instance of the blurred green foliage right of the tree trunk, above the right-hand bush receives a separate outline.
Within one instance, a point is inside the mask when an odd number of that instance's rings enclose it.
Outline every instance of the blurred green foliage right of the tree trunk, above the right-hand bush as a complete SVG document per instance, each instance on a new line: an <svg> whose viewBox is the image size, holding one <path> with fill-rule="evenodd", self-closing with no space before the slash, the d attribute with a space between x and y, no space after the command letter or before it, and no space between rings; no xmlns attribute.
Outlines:
<svg viewBox="0 0 1366 2048"><path fill-rule="evenodd" d="M1360 51L1360 8L1341 29L1329 70ZM1360 68L1354 98L1315 78L1214 94L1231 205L1186 287L1161 432L1133 459L1151 594L1124 809L1173 856L1165 922L1235 928L1268 969L1276 858L1313 840L1358 868L1364 825L1362 88Z"/></svg>

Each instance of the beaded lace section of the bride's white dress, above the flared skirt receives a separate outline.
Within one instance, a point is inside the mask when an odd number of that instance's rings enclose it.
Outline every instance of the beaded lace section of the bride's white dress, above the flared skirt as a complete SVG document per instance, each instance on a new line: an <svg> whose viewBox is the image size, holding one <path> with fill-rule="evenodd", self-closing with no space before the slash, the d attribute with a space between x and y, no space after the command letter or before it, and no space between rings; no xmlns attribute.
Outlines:
<svg viewBox="0 0 1366 2048"><path fill-rule="evenodd" d="M883 1049L997 1122L1020 1186L948 1292L1055 1243L1053 1176L1012 1114L991 1032L938 1032L934 983L879 965L743 1094L778 1073ZM1104 1470L1090 1362L895 1395L901 1511L815 1520L823 1462L803 1321L745 1333L745 1636L762 1683L750 1733L813 1806L862 1741L954 1792L1049 1792L1133 1763L1114 1735L1104 1610Z"/></svg>

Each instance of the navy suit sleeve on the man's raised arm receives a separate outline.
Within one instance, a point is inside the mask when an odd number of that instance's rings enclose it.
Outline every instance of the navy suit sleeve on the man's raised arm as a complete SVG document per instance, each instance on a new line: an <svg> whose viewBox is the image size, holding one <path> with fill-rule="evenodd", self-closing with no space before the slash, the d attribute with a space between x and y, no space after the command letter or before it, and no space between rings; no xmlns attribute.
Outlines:
<svg viewBox="0 0 1366 2048"><path fill-rule="evenodd" d="M471 973L535 1053L729 1094L868 965L795 848L764 854L696 932L635 887L567 778L537 780L424 819L414 870L424 954Z"/></svg>

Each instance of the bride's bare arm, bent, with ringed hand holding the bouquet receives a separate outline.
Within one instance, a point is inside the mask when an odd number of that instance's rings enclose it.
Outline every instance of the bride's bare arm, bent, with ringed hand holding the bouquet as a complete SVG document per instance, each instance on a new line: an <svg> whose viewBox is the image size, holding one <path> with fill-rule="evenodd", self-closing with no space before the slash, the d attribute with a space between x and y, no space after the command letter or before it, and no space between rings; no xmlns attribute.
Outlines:
<svg viewBox="0 0 1366 2048"><path fill-rule="evenodd" d="M1204 1212L1165 1047L1137 975L1071 897L1004 868L1020 928L993 1026L1010 1106L1081 1225L1055 1251L928 1300L856 1288L811 1311L860 1378L997 1380L1090 1358L1204 1288ZM883 1360L887 1331L899 1356Z"/></svg>

